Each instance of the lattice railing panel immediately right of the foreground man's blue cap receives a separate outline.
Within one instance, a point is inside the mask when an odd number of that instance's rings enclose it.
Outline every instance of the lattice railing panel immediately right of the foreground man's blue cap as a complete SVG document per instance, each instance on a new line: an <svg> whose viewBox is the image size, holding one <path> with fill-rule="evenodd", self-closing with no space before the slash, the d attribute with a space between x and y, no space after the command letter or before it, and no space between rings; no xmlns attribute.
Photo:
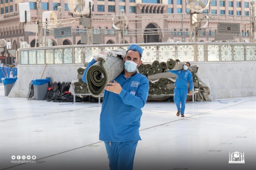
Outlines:
<svg viewBox="0 0 256 170"><path fill-rule="evenodd" d="M156 60L156 45L141 46L143 49L142 58L143 62L153 62Z"/></svg>

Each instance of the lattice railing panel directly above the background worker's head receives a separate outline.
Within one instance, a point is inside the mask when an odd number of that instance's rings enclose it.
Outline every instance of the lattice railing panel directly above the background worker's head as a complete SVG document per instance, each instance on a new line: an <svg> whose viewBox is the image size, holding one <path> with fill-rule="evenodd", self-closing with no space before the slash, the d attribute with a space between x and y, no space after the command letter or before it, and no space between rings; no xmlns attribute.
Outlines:
<svg viewBox="0 0 256 170"><path fill-rule="evenodd" d="M180 61L194 61L194 45L177 45L177 58Z"/></svg>

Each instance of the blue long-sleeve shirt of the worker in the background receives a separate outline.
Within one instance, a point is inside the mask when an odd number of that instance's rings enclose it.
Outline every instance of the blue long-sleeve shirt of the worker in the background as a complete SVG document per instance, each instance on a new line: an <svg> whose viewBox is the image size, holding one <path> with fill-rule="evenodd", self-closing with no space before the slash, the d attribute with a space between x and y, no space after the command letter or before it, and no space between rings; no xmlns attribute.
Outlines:
<svg viewBox="0 0 256 170"><path fill-rule="evenodd" d="M189 90L193 89L192 73L188 70L169 70L169 72L177 74L174 86L178 89L187 88L187 82L189 82Z"/></svg>

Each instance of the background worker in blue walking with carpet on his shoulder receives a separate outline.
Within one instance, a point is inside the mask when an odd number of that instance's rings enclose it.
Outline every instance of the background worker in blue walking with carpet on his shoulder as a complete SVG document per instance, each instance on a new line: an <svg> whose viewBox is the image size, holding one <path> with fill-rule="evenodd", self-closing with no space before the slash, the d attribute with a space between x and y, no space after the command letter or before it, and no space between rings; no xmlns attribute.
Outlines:
<svg viewBox="0 0 256 170"><path fill-rule="evenodd" d="M183 69L169 70L169 72L177 74L176 81L174 83L174 102L178 111L176 115L179 116L179 114L181 114L181 117L184 117L185 112L185 104L187 100L187 82L189 82L189 96L192 95L193 90L192 73L187 70L189 67L190 63L185 62Z"/></svg>

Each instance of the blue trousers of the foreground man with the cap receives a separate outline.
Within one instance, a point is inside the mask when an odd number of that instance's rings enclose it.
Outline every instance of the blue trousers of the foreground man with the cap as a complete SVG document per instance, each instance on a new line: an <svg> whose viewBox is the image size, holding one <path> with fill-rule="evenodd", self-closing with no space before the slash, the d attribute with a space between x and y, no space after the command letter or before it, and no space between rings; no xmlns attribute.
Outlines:
<svg viewBox="0 0 256 170"><path fill-rule="evenodd" d="M127 142L104 141L110 170L132 170L138 140Z"/></svg>

